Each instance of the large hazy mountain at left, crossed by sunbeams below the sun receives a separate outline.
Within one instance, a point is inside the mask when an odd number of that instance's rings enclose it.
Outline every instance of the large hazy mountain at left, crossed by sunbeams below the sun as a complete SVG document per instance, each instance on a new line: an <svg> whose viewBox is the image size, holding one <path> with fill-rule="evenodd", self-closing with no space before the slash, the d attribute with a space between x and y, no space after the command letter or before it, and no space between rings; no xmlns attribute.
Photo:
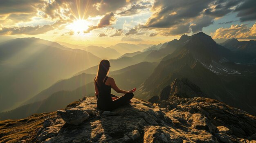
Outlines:
<svg viewBox="0 0 256 143"><path fill-rule="evenodd" d="M56 81L99 61L92 53L37 38L0 43L0 111L19 106Z"/></svg>

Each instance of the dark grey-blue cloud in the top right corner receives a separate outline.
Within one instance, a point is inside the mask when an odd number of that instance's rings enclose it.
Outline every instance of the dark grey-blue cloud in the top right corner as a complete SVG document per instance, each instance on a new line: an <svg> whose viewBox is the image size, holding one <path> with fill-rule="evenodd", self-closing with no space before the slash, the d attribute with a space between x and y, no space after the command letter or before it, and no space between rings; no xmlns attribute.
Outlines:
<svg viewBox="0 0 256 143"><path fill-rule="evenodd" d="M256 0L245 0L235 11L238 12L240 22L256 20Z"/></svg>

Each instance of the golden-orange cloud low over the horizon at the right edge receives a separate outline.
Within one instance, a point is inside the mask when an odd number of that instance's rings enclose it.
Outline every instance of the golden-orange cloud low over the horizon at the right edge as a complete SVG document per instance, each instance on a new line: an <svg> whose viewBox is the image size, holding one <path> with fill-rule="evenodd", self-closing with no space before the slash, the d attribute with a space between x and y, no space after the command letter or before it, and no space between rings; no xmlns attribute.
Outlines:
<svg viewBox="0 0 256 143"><path fill-rule="evenodd" d="M247 27L246 24L231 25L229 28L219 28L214 33L211 33L213 39L254 39L256 40L256 23L252 27Z"/></svg>

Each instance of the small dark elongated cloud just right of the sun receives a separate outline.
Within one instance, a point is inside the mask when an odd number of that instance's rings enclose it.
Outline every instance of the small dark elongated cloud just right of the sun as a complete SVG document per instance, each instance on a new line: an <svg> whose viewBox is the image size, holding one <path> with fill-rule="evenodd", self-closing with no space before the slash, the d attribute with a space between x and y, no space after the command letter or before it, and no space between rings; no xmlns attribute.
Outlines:
<svg viewBox="0 0 256 143"><path fill-rule="evenodd" d="M107 13L97 24L97 26L89 26L88 30L84 31L84 33L89 33L94 29L100 29L106 26L110 26L116 21L114 17L114 13Z"/></svg>

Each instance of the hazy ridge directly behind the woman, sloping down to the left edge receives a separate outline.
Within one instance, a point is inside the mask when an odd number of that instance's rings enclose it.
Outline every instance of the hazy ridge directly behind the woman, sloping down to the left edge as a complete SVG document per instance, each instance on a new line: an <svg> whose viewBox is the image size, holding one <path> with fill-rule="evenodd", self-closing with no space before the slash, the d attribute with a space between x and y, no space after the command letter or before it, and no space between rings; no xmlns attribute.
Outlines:
<svg viewBox="0 0 256 143"><path fill-rule="evenodd" d="M119 88L129 90L138 87L153 72L157 63L141 62L121 70L110 72ZM20 119L31 114L53 112L64 108L70 101L83 96L94 95L93 79L95 75L81 74L57 82L27 101L26 105L0 113L0 120ZM115 95L123 95L112 90Z"/></svg>

